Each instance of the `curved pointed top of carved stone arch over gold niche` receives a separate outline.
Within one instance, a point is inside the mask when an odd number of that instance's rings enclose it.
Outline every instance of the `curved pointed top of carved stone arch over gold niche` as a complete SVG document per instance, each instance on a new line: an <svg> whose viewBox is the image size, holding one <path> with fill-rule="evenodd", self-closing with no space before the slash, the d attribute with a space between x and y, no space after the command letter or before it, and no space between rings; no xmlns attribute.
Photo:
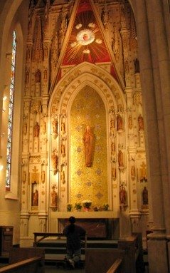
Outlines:
<svg viewBox="0 0 170 273"><path fill-rule="evenodd" d="M105 68L84 62L71 68L55 86L49 105L50 116L65 114L70 99L73 101L73 97L86 85L100 94L109 112L115 115L124 113L124 93L115 78Z"/></svg>

